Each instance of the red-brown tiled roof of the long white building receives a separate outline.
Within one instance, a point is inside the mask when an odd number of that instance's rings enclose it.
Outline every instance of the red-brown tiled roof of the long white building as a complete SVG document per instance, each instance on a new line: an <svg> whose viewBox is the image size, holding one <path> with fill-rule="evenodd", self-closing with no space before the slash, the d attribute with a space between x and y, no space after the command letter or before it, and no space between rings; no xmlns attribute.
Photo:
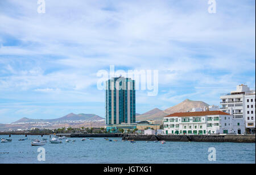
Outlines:
<svg viewBox="0 0 256 175"><path fill-rule="evenodd" d="M205 116L205 115L230 115L228 113L224 113L222 111L198 111L198 112L189 112L189 113L174 113L170 114L164 117L168 116Z"/></svg>

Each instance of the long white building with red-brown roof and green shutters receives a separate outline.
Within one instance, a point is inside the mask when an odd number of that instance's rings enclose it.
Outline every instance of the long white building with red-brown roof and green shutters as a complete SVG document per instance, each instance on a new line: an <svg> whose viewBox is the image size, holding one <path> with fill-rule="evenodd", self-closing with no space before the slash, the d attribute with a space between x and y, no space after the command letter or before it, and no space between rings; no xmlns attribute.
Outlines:
<svg viewBox="0 0 256 175"><path fill-rule="evenodd" d="M222 111L197 111L164 116L165 134L230 134L235 133L232 115ZM242 132L240 130L240 132Z"/></svg>

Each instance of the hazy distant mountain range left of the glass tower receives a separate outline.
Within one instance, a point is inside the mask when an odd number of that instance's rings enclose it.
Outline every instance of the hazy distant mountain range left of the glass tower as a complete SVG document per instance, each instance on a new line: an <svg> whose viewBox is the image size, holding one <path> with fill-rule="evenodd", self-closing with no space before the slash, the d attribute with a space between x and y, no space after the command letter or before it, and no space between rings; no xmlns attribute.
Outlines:
<svg viewBox="0 0 256 175"><path fill-rule="evenodd" d="M75 121L75 120L87 120L87 121L93 121L93 120L102 120L104 118L96 115L96 114L68 114L61 118L57 119L29 119L29 118L22 118L17 120L14 123L31 123L31 122L61 122L61 121Z"/></svg>

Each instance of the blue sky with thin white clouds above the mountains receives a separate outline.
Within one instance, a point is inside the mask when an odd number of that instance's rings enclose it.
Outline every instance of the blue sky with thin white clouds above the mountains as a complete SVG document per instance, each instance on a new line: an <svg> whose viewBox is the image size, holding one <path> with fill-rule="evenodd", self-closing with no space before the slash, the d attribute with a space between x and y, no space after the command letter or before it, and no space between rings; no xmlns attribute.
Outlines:
<svg viewBox="0 0 256 175"><path fill-rule="evenodd" d="M69 113L105 117L99 70L158 70L158 94L136 113L185 99L219 105L255 89L255 1L0 1L0 123Z"/></svg>

